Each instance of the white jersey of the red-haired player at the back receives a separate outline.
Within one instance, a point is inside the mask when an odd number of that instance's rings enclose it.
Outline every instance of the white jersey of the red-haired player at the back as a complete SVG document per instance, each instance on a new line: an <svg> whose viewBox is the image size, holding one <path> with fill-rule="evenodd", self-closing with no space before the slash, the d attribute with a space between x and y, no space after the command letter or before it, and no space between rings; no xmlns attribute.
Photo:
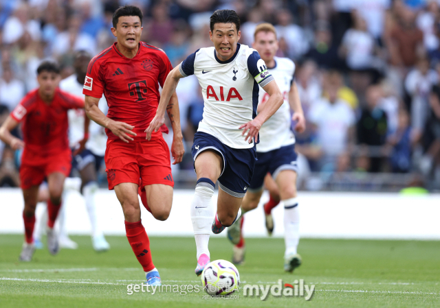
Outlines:
<svg viewBox="0 0 440 308"><path fill-rule="evenodd" d="M260 143L256 145L256 152L269 152L295 143L289 105L289 91L294 81L295 63L289 58L274 57L274 60L275 67L267 70L274 76L278 88L283 93L284 102L261 126ZM265 104L267 99L269 99L269 94L260 89L259 104Z"/></svg>

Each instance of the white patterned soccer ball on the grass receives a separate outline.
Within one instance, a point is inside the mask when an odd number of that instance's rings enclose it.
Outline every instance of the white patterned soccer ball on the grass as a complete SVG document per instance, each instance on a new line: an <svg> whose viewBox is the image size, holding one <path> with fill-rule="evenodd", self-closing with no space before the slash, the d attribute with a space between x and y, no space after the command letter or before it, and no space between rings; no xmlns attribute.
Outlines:
<svg viewBox="0 0 440 308"><path fill-rule="evenodd" d="M229 261L212 261L201 272L201 284L206 293L210 295L234 293L240 285L239 270Z"/></svg>

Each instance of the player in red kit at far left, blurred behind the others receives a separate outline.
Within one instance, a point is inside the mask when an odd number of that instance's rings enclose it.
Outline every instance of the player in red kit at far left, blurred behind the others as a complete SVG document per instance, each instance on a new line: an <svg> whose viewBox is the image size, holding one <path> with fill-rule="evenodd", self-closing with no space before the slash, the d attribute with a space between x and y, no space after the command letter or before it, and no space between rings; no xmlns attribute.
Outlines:
<svg viewBox="0 0 440 308"><path fill-rule="evenodd" d="M37 73L39 88L22 99L0 128L0 139L12 150L23 148L20 180L25 201L25 244L20 261L31 261L34 254L35 208L39 186L45 178L50 193L47 201L47 248L51 254L58 252L54 223L61 206L64 180L72 165L67 139L67 110L84 108L84 99L58 88L61 78L57 64L42 62ZM10 133L20 122L23 123L23 141Z"/></svg>

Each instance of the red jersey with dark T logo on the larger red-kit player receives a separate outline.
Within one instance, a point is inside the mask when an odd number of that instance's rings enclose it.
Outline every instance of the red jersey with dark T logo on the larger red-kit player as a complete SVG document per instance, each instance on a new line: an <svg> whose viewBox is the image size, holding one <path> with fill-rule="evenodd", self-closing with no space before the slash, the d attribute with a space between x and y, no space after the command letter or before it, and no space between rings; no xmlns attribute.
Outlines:
<svg viewBox="0 0 440 308"><path fill-rule="evenodd" d="M104 93L109 105L107 117L134 126L137 136L130 137L145 141L144 130L159 106L159 84L164 86L173 67L162 49L140 42L136 56L129 59L118 51L117 44L91 59L83 93L96 98ZM109 139L119 139L111 130L105 131ZM162 137L160 131L151 134L152 139L157 137Z"/></svg>

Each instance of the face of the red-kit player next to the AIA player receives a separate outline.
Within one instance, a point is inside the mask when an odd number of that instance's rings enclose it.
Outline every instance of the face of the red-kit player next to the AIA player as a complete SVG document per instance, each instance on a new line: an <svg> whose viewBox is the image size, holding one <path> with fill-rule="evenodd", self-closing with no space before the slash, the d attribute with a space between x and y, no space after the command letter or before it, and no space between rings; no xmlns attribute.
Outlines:
<svg viewBox="0 0 440 308"><path fill-rule="evenodd" d="M140 42L142 29L139 16L120 16L118 25L111 28L111 33L118 39L118 44L126 49L135 49Z"/></svg>

